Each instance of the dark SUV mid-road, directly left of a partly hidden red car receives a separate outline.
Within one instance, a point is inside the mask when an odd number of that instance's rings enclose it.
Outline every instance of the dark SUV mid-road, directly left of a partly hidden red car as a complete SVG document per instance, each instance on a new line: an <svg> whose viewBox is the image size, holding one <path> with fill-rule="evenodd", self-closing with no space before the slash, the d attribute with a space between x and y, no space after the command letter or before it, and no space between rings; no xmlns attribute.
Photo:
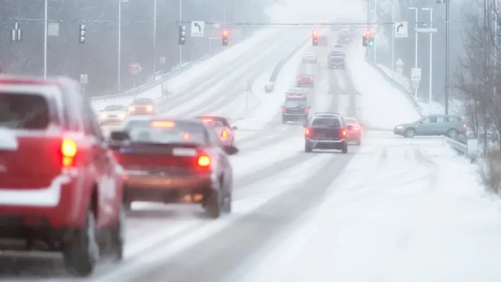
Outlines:
<svg viewBox="0 0 501 282"><path fill-rule="evenodd" d="M304 124L304 151L335 149L348 152L347 124L339 114L313 114Z"/></svg>

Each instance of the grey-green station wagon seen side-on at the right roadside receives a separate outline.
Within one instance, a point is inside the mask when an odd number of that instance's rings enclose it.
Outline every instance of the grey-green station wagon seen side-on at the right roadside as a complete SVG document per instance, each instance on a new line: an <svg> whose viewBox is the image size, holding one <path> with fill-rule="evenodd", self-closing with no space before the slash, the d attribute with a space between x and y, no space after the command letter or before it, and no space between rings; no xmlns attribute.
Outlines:
<svg viewBox="0 0 501 282"><path fill-rule="evenodd" d="M466 136L466 131L466 124L454 114L431 114L409 124L398 124L393 129L394 134L407 138L444 135L456 139Z"/></svg>

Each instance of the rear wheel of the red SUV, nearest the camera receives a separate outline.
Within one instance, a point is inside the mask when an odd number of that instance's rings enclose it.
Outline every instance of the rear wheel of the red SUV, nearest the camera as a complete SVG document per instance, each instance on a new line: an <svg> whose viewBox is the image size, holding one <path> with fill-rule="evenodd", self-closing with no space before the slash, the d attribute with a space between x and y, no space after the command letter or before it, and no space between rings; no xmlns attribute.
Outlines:
<svg viewBox="0 0 501 282"><path fill-rule="evenodd" d="M99 259L96 236L96 217L92 208L89 208L84 228L76 230L64 246L64 266L70 274L81 277L92 274Z"/></svg>

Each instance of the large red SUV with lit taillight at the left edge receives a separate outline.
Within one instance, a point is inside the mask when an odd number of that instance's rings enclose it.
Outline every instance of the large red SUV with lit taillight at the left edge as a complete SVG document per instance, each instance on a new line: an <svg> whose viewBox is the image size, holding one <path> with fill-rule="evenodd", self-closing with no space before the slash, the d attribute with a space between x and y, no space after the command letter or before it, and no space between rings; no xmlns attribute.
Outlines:
<svg viewBox="0 0 501 282"><path fill-rule="evenodd" d="M122 259L123 169L78 83L0 75L0 249L62 252L74 275Z"/></svg>

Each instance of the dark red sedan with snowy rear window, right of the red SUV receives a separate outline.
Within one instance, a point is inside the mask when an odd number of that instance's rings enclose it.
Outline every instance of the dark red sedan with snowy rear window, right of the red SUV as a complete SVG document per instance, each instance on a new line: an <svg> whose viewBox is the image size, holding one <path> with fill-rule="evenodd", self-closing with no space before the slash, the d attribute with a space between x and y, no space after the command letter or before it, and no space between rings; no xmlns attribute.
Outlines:
<svg viewBox="0 0 501 282"><path fill-rule="evenodd" d="M197 119L130 117L110 135L125 169L124 203L201 204L210 217L231 212L233 170L214 129Z"/></svg>

